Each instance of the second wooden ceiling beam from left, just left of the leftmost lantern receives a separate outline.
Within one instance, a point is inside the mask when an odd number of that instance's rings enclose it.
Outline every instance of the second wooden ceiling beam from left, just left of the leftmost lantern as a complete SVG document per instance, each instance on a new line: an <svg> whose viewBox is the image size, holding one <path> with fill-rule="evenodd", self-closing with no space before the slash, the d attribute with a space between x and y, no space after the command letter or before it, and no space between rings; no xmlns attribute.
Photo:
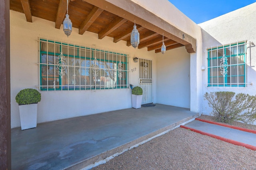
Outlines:
<svg viewBox="0 0 256 170"><path fill-rule="evenodd" d="M70 0L68 0L69 4ZM65 14L67 12L67 1L66 0L60 0L58 11L55 18L55 28L60 29L60 25L62 24Z"/></svg>

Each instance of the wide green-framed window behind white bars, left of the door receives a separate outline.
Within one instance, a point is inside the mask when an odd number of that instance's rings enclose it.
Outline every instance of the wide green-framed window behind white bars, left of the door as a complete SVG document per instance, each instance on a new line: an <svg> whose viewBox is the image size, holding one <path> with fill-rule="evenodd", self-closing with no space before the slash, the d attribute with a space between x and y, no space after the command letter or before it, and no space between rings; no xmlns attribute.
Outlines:
<svg viewBox="0 0 256 170"><path fill-rule="evenodd" d="M40 39L40 89L128 88L127 54Z"/></svg>

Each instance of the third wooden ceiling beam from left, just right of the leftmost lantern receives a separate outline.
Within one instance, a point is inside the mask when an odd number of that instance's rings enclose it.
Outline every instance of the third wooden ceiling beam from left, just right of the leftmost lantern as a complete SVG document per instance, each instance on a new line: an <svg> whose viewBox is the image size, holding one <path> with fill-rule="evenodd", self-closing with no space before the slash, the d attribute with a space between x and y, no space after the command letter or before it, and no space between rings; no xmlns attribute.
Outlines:
<svg viewBox="0 0 256 170"><path fill-rule="evenodd" d="M83 35L84 32L92 25L92 23L98 18L98 16L100 16L103 11L104 10L101 8L94 6L90 14L88 14L83 23L80 25L79 34Z"/></svg>

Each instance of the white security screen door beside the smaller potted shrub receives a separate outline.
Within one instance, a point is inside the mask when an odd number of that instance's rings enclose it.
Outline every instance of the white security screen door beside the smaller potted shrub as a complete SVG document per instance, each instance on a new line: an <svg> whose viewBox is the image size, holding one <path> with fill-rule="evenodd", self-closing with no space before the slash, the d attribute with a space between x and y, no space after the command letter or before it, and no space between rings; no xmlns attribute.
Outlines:
<svg viewBox="0 0 256 170"><path fill-rule="evenodd" d="M139 59L139 62L139 86L143 90L142 104L152 103L152 61L148 59Z"/></svg>

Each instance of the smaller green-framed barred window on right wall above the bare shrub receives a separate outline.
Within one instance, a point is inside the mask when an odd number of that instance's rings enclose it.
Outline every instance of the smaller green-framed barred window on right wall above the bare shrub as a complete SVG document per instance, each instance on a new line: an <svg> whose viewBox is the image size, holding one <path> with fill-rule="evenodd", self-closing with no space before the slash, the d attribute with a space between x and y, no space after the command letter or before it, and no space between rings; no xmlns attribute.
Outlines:
<svg viewBox="0 0 256 170"><path fill-rule="evenodd" d="M208 86L246 86L246 42L208 49Z"/></svg>

